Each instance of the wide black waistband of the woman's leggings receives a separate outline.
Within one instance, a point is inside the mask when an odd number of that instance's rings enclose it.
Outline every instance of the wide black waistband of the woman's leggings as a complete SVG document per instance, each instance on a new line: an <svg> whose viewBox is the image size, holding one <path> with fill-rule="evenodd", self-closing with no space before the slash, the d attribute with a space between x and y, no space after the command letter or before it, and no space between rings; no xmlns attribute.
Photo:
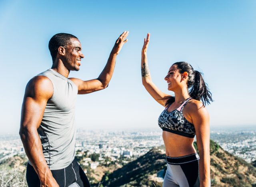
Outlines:
<svg viewBox="0 0 256 187"><path fill-rule="evenodd" d="M193 154L182 156L182 157L168 157L168 156L166 156L167 163L172 164L172 165L189 163L189 162L196 161L196 160L199 160L198 153L193 153Z"/></svg>

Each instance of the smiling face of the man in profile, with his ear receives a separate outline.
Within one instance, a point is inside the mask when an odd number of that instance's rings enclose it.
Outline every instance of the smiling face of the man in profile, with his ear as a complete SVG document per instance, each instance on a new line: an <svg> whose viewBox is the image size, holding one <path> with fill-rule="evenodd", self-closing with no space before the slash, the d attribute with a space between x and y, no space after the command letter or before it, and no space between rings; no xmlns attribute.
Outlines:
<svg viewBox="0 0 256 187"><path fill-rule="evenodd" d="M81 59L84 58L82 54L81 43L77 38L70 39L71 44L66 49L66 68L71 71L78 71L81 65Z"/></svg>

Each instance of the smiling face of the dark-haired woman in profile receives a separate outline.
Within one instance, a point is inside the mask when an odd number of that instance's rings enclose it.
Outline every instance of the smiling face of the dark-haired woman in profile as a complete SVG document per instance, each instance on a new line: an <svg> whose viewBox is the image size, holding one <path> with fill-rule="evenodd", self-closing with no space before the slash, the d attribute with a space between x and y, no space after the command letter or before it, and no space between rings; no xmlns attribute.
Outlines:
<svg viewBox="0 0 256 187"><path fill-rule="evenodd" d="M177 88L184 86L182 74L180 74L176 65L172 65L168 71L167 76L164 78L168 84L168 90L174 91Z"/></svg>

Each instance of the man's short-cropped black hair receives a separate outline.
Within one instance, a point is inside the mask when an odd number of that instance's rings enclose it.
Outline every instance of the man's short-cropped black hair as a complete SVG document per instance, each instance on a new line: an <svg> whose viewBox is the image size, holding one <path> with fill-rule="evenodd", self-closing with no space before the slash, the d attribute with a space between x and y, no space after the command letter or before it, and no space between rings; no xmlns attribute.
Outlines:
<svg viewBox="0 0 256 187"><path fill-rule="evenodd" d="M72 34L67 34L67 33L58 33L52 36L48 45L51 56L52 56L52 62L54 62L57 56L58 48L60 46L66 48L69 44L71 44L70 42L71 38L76 38L76 36Z"/></svg>

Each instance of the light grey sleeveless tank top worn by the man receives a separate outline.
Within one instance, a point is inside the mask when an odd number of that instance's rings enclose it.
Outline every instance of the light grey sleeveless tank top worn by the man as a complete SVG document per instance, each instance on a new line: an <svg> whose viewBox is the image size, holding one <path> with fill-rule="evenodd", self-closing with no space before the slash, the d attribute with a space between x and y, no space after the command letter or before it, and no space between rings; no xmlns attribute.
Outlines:
<svg viewBox="0 0 256 187"><path fill-rule="evenodd" d="M54 89L37 129L44 157L51 170L63 169L75 156L74 118L78 88L71 80L52 69L37 76L49 78Z"/></svg>

